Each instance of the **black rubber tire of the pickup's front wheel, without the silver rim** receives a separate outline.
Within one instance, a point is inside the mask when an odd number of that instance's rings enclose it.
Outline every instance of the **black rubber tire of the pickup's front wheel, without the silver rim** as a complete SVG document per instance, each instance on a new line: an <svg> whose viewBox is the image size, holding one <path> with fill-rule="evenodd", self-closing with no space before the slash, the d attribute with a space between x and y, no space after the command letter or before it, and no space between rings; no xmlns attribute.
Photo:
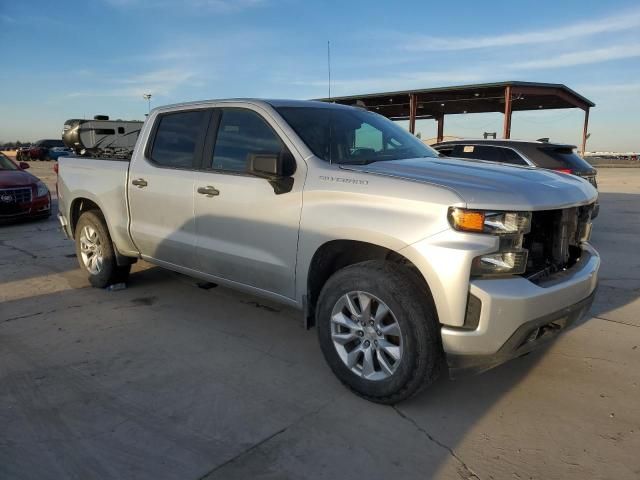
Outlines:
<svg viewBox="0 0 640 480"><path fill-rule="evenodd" d="M354 291L367 292L384 302L400 326L402 357L388 378L368 380L354 373L334 346L331 336L333 308L343 295ZM402 265L366 261L336 272L320 293L316 326L320 348L333 373L367 400L383 404L405 400L431 384L442 369L444 354L430 293L417 276Z"/></svg>

